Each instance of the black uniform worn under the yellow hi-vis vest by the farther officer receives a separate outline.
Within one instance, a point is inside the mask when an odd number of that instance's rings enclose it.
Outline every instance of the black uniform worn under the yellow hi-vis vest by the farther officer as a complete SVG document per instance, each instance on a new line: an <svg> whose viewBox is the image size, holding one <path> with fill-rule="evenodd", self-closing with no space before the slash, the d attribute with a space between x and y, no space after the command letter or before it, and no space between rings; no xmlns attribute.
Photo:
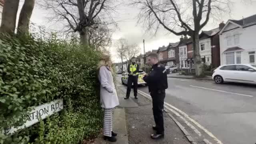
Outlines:
<svg viewBox="0 0 256 144"><path fill-rule="evenodd" d="M132 63L133 65L136 64L136 63ZM137 64L137 67L136 67L136 71L134 71L133 73L136 74L137 72L139 72L139 64ZM128 82L127 82L127 91L126 91L126 98L129 98L130 97L130 92L131 92L131 88L132 88L132 83L133 83L133 92L134 92L134 97L135 98L138 98L137 96L137 88L138 88L138 75L136 76L132 76L130 75L131 71L130 71L130 64L128 64L128 67L127 67L127 71L129 73L129 76L128 76Z"/></svg>

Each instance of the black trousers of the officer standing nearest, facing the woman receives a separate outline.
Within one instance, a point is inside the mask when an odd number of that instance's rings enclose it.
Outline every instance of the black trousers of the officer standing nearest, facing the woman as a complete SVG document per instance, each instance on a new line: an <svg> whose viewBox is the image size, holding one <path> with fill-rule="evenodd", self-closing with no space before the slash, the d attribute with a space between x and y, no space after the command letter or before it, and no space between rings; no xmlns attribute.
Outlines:
<svg viewBox="0 0 256 144"><path fill-rule="evenodd" d="M153 114L154 120L156 123L156 134L164 134L164 117L163 117L163 109L164 109L164 98L165 91L160 90L158 92L150 92L153 103Z"/></svg>

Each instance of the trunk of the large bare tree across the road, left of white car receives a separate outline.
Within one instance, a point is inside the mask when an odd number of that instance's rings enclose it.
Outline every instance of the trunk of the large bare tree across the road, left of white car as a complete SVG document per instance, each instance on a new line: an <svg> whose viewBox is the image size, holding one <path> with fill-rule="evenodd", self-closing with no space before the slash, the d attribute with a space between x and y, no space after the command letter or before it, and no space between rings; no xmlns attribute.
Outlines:
<svg viewBox="0 0 256 144"><path fill-rule="evenodd" d="M202 62L199 48L199 32L193 32L193 48L194 48L194 64L196 69L196 76L203 76Z"/></svg>

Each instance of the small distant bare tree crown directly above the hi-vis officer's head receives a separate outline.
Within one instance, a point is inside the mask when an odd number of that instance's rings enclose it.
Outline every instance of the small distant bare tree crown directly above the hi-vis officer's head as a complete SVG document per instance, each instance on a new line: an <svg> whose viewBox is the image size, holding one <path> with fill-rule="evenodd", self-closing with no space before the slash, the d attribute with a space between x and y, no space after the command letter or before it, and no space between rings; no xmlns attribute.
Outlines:
<svg viewBox="0 0 256 144"><path fill-rule="evenodd" d="M133 57L140 53L140 48L137 44L126 45L125 49L126 51L124 52L124 57L128 62L130 62Z"/></svg>

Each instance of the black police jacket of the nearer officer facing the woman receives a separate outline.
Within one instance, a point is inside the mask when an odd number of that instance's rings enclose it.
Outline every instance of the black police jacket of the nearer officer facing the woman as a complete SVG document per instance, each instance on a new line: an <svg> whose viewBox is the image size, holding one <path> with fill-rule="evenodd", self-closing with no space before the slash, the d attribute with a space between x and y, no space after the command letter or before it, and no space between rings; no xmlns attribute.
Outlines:
<svg viewBox="0 0 256 144"><path fill-rule="evenodd" d="M167 72L162 64L154 64L148 76L144 76L143 80L148 84L149 92L156 92L168 88Z"/></svg>

